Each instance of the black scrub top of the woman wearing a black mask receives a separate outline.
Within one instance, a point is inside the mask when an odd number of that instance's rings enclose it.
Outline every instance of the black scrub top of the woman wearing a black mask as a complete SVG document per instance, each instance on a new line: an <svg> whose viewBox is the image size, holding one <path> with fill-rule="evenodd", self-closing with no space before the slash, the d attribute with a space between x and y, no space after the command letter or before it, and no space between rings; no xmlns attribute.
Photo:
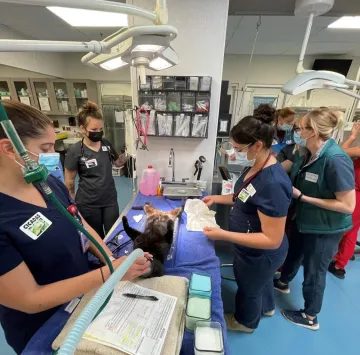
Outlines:
<svg viewBox="0 0 360 355"><path fill-rule="evenodd" d="M119 159L111 143L101 142L98 152L95 152L82 142L74 144L66 154L65 168L77 171L79 174L79 188L76 193L78 205L90 207L109 207L117 204L117 192L112 176L112 161Z"/></svg>

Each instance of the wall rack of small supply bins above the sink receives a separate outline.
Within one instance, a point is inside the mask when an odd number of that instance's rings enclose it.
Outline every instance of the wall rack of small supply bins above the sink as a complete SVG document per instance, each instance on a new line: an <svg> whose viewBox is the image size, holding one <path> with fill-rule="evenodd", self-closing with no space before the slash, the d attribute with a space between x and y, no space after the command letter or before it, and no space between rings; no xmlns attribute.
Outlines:
<svg viewBox="0 0 360 355"><path fill-rule="evenodd" d="M155 110L150 128L156 137L208 137L211 77L147 76L139 84L139 105ZM153 127L152 125L155 125Z"/></svg>

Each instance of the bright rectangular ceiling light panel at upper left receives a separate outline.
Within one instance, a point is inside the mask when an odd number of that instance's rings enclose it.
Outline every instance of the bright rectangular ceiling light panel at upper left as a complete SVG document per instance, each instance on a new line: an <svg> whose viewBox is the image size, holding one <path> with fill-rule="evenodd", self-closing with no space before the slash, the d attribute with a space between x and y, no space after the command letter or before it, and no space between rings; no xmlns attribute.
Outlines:
<svg viewBox="0 0 360 355"><path fill-rule="evenodd" d="M114 12L48 6L47 9L73 27L127 27L128 17Z"/></svg>

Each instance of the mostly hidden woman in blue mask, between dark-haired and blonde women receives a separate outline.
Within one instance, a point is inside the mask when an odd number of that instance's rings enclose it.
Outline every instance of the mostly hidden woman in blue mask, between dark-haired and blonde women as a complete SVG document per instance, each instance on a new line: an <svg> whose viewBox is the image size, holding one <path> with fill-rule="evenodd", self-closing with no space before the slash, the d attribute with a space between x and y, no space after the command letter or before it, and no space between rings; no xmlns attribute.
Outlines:
<svg viewBox="0 0 360 355"><path fill-rule="evenodd" d="M275 135L271 146L275 155L288 145L294 144L292 128L295 122L295 111L284 107L275 113Z"/></svg>

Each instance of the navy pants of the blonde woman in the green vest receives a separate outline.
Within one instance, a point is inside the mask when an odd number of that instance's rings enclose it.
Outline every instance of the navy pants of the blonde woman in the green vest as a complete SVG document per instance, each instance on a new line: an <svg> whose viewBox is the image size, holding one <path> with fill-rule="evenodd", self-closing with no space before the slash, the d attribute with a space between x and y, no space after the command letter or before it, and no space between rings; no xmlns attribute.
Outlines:
<svg viewBox="0 0 360 355"><path fill-rule="evenodd" d="M305 313L315 317L321 311L326 286L326 273L339 247L343 232L336 234L306 234L294 228L288 256L280 281L288 284L304 266L303 297Z"/></svg>

